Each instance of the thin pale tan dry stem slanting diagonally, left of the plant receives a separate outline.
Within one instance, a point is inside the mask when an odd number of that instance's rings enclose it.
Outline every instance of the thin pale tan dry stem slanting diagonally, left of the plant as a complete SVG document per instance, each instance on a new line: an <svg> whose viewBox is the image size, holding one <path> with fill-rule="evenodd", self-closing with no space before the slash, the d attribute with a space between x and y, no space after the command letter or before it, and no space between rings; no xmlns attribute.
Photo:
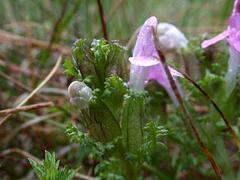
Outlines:
<svg viewBox="0 0 240 180"><path fill-rule="evenodd" d="M50 79L51 77L55 74L57 69L59 68L60 64L62 62L62 55L59 56L55 66L51 70L51 72L47 75L47 77L16 107L19 108L23 106L27 101L29 101ZM7 119L11 116L12 114L8 114L5 118L0 120L0 126L7 121Z"/></svg>

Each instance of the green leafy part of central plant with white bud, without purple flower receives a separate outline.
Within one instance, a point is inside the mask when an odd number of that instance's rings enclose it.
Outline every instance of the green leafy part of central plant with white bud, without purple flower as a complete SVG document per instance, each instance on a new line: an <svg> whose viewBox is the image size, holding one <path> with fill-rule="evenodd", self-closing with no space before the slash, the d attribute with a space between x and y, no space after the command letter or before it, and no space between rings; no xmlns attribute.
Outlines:
<svg viewBox="0 0 240 180"><path fill-rule="evenodd" d="M127 73L125 58L126 48L115 41L100 39L88 43L78 40L75 43L72 65L69 66L72 70L68 68L66 72L78 72L68 74L76 79L80 77L69 86L69 95L80 111L83 132L70 127L67 133L74 142L80 142L98 154L94 157L105 159L105 156L114 154L117 161L125 164L122 174L130 176L126 168L131 166L130 160L125 159L128 153L139 156L143 144L146 95L135 92L124 82ZM76 140L79 139L76 137L81 140ZM137 166L133 165L134 171L137 171Z"/></svg>

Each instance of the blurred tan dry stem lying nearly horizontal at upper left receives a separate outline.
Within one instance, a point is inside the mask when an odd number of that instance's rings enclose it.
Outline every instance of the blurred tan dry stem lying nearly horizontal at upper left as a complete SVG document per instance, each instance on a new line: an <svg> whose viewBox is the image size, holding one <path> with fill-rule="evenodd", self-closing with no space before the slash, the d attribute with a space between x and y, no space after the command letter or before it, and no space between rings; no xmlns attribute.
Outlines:
<svg viewBox="0 0 240 180"><path fill-rule="evenodd" d="M37 40L37 39L29 39L22 36L14 35L9 32L0 30L0 43L4 44L14 44L19 46L27 46L31 44L32 48L39 49L48 49L48 42ZM60 45L60 44L52 44L51 50L58 51L64 55L71 55L71 48Z"/></svg>

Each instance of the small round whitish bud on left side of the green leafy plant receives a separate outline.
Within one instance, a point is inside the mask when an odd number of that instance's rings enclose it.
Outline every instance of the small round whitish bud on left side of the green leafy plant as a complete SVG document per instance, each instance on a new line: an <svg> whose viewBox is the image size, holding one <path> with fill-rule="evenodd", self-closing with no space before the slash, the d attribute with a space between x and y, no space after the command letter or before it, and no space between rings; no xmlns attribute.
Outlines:
<svg viewBox="0 0 240 180"><path fill-rule="evenodd" d="M88 108L92 97L92 90L86 84L79 81L73 81L68 87L70 102L80 109Z"/></svg>

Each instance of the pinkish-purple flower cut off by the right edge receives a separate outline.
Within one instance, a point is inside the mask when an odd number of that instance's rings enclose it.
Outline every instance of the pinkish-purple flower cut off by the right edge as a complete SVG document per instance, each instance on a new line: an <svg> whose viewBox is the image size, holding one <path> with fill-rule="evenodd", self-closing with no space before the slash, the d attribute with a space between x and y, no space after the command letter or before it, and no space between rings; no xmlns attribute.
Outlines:
<svg viewBox="0 0 240 180"><path fill-rule="evenodd" d="M207 48L221 40L227 40L229 44L229 64L226 74L227 95L230 95L236 85L237 73L240 66L240 0L236 0L228 28L216 37L202 43L203 48Z"/></svg>

